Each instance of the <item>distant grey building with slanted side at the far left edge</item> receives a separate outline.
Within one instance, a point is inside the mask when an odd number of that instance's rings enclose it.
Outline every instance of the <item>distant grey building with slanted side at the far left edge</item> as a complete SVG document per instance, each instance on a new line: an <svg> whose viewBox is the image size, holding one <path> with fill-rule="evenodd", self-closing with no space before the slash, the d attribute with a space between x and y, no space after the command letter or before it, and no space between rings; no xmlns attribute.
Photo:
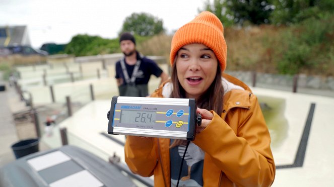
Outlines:
<svg viewBox="0 0 334 187"><path fill-rule="evenodd" d="M27 26L0 26L0 47L31 46Z"/></svg>

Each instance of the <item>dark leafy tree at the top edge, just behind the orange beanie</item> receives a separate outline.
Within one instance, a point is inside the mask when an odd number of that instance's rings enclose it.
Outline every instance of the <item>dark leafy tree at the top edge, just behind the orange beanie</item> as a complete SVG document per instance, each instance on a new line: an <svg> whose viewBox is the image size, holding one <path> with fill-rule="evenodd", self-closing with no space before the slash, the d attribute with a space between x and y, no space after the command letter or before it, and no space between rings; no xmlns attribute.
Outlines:
<svg viewBox="0 0 334 187"><path fill-rule="evenodd" d="M214 0L205 3L205 10L214 13L225 26L233 23L242 25L248 21L252 24L270 22L274 6L270 0Z"/></svg>

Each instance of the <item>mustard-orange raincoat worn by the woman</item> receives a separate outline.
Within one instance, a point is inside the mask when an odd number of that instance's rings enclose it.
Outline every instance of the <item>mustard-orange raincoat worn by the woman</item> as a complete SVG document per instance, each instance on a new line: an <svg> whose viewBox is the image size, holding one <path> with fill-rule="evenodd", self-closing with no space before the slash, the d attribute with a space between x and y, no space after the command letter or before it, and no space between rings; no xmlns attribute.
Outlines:
<svg viewBox="0 0 334 187"><path fill-rule="evenodd" d="M205 151L204 186L270 186L275 163L270 134L257 98L242 81L224 78L243 89L224 95L223 113L214 111L211 123L193 141ZM163 97L161 85L151 97ZM132 172L154 174L155 186L170 186L170 139L127 136L125 161Z"/></svg>

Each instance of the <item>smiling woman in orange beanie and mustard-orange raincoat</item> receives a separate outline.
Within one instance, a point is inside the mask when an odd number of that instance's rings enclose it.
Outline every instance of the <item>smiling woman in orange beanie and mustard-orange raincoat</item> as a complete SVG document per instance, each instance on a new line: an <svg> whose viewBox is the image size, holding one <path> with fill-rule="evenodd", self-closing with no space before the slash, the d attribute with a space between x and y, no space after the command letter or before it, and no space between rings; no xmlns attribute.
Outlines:
<svg viewBox="0 0 334 187"><path fill-rule="evenodd" d="M257 98L224 74L223 25L210 12L182 26L171 44L171 80L151 97L194 98L202 125L189 144L181 186L270 186L275 164ZM127 136L125 161L155 186L175 186L186 141Z"/></svg>

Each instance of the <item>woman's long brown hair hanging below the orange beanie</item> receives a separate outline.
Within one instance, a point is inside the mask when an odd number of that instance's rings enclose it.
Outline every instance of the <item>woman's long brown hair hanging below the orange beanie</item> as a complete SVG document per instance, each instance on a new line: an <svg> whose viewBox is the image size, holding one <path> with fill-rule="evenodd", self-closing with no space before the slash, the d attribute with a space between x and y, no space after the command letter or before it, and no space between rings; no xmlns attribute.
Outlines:
<svg viewBox="0 0 334 187"><path fill-rule="evenodd" d="M176 69L177 54L174 59L172 67L171 81L173 83L173 90L170 98L185 98L185 90L181 86L177 78ZM217 72L214 81L211 83L209 88L198 98L196 101L196 106L201 109L213 110L217 114L221 115L223 112L223 96L224 88L222 85L222 70L219 67L219 62L217 63ZM174 140L170 148L177 145L186 145L186 140Z"/></svg>

